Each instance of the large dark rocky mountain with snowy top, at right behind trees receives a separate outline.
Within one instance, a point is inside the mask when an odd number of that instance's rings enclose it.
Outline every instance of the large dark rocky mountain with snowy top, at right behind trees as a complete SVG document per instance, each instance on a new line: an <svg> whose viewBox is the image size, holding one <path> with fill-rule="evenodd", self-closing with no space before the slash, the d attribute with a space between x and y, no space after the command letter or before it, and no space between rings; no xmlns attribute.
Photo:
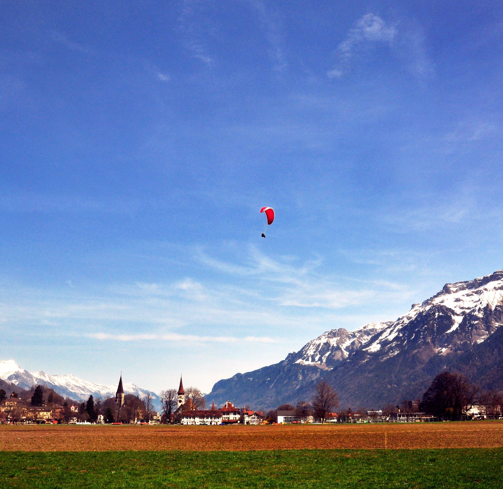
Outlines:
<svg viewBox="0 0 503 489"><path fill-rule="evenodd" d="M503 390L503 270L446 284L396 321L323 333L285 360L218 381L207 399L254 409L310 400L324 379L341 406L379 408L421 397L444 369Z"/></svg>

